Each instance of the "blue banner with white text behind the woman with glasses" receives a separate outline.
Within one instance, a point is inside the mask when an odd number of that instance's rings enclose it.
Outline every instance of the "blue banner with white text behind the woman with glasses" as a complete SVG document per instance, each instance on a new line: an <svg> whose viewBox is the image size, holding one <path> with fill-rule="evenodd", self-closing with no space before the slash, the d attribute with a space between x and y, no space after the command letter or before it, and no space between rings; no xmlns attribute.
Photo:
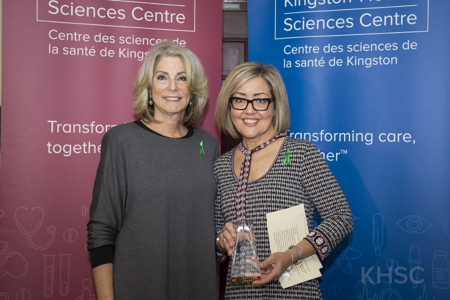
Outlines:
<svg viewBox="0 0 450 300"><path fill-rule="evenodd" d="M317 145L354 230L324 299L450 294L450 1L247 0L249 60L285 81L292 137Z"/></svg>

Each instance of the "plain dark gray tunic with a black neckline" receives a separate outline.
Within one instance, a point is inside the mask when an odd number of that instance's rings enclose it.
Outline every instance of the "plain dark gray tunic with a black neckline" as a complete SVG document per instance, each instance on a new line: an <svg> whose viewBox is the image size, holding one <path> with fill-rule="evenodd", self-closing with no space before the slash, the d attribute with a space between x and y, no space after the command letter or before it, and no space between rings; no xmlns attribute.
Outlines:
<svg viewBox="0 0 450 300"><path fill-rule="evenodd" d="M115 245L115 299L217 298L217 150L216 139L198 128L186 138L160 136L136 123L106 132L87 247Z"/></svg>

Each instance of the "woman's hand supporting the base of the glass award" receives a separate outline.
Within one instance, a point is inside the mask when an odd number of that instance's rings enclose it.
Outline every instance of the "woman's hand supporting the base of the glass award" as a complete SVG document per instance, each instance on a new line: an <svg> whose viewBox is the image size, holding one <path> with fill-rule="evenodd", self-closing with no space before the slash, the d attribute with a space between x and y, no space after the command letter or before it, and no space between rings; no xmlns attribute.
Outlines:
<svg viewBox="0 0 450 300"><path fill-rule="evenodd" d="M284 270L292 264L292 256L289 252L290 250L275 252L264 261L261 261L259 263L261 279L254 280L252 284L265 284L272 280L277 280Z"/></svg>

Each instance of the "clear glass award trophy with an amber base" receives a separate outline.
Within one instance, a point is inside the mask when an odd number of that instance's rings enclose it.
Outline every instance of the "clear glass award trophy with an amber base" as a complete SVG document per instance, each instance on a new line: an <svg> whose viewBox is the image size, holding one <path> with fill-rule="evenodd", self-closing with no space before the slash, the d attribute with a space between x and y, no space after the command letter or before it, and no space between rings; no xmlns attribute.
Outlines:
<svg viewBox="0 0 450 300"><path fill-rule="evenodd" d="M253 223L242 221L234 224L234 229L236 238L231 255L231 282L251 283L261 278Z"/></svg>

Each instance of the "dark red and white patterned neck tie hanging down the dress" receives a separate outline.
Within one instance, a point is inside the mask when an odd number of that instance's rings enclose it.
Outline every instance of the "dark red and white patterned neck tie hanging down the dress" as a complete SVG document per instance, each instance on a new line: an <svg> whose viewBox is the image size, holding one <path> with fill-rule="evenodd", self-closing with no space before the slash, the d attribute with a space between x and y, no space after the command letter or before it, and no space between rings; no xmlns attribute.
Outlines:
<svg viewBox="0 0 450 300"><path fill-rule="evenodd" d="M237 146L239 147L239 150L244 154L244 160L242 161L242 164L240 165L240 173L239 173L239 186L237 187L237 193L236 193L236 216L238 221L245 220L245 198L246 198L246 189L247 189L247 182L248 182L248 174L250 173L250 161L251 161L251 154L253 152L256 152L257 150L260 150L267 146L269 143L275 141L277 138L286 136L286 133L280 133L275 135L270 140L267 140L266 142L260 144L256 148L252 150L248 150L245 148L245 146L240 142Z"/></svg>

